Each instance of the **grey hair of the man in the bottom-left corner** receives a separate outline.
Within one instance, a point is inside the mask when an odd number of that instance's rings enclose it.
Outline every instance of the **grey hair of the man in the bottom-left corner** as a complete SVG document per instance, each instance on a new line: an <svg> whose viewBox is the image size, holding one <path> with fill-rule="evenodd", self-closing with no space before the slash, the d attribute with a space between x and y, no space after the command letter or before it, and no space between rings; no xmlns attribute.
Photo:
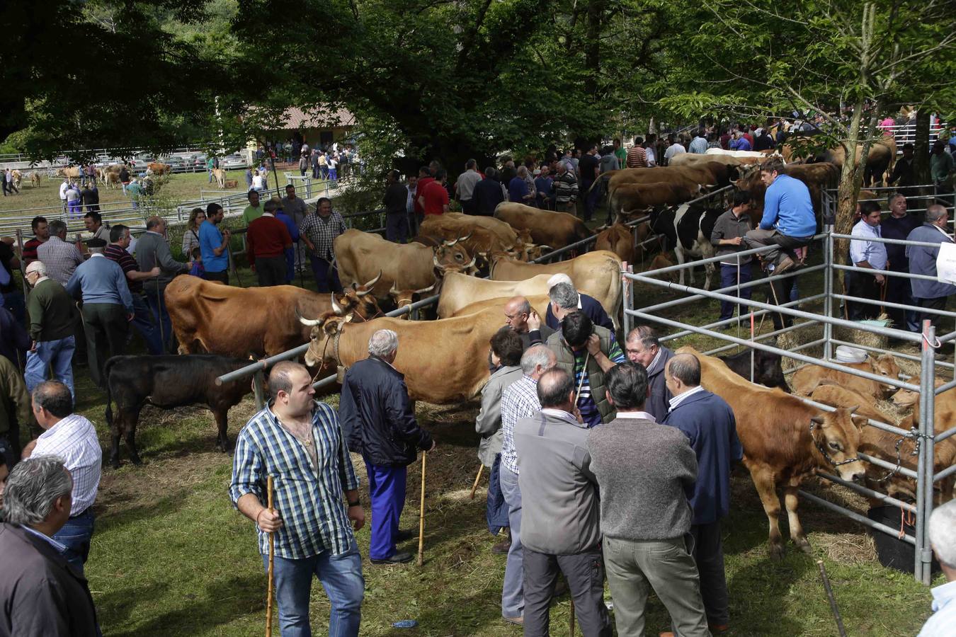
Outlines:
<svg viewBox="0 0 956 637"><path fill-rule="evenodd" d="M31 526L46 520L54 500L73 491L73 478L55 456L33 456L21 460L7 478L3 494L5 521Z"/></svg>

